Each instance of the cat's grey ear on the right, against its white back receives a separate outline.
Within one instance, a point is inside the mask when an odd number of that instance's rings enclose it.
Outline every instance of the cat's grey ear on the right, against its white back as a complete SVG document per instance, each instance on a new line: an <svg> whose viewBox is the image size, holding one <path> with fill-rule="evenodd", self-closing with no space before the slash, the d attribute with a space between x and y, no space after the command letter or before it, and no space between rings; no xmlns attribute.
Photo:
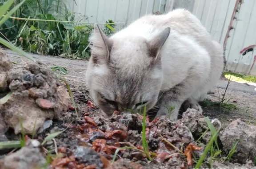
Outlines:
<svg viewBox="0 0 256 169"><path fill-rule="evenodd" d="M158 53L168 38L170 31L171 28L165 28L164 31L161 31L149 42L149 53L151 57L156 58L158 56Z"/></svg>

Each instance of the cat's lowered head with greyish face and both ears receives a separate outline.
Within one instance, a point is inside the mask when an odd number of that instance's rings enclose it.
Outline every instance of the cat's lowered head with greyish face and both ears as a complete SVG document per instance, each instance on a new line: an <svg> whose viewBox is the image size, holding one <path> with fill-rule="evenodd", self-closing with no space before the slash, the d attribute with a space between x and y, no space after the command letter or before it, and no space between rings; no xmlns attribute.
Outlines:
<svg viewBox="0 0 256 169"><path fill-rule="evenodd" d="M114 110L137 112L151 109L163 83L160 48L170 28L151 41L140 36L114 35L108 38L95 25L91 36L92 55L86 81L97 106L108 116Z"/></svg>

